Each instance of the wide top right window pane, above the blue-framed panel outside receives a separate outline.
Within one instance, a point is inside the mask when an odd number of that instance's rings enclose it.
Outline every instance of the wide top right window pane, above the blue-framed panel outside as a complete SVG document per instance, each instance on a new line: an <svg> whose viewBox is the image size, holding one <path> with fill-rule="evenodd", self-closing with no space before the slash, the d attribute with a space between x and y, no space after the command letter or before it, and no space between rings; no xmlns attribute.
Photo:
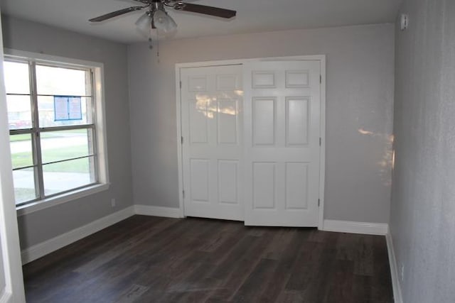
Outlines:
<svg viewBox="0 0 455 303"><path fill-rule="evenodd" d="M90 74L85 70L36 65L38 94L90 96Z"/></svg>

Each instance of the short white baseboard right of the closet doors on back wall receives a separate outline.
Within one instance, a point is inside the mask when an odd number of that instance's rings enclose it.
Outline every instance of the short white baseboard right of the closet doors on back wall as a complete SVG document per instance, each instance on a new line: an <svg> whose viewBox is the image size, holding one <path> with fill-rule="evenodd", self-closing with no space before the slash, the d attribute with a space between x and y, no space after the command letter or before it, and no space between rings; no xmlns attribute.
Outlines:
<svg viewBox="0 0 455 303"><path fill-rule="evenodd" d="M389 225L385 223L324 220L323 231L385 236L389 231Z"/></svg>

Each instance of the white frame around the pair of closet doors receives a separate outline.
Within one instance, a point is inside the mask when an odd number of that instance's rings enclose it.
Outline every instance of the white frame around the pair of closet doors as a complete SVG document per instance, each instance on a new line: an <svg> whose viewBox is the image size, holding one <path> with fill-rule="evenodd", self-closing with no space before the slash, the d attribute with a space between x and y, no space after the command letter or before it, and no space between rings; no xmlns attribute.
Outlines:
<svg viewBox="0 0 455 303"><path fill-rule="evenodd" d="M176 64L176 120L177 120L177 151L178 151L178 209L182 218L185 217L183 206L183 145L181 126L181 70L191 67L210 67L223 65L245 65L247 62L267 61L319 61L321 65L321 148L319 162L319 218L318 229L323 230L324 219L324 188L326 181L326 55L301 55L290 57L262 57L239 60L216 60L204 62L188 62ZM245 89L245 88L244 88Z"/></svg>

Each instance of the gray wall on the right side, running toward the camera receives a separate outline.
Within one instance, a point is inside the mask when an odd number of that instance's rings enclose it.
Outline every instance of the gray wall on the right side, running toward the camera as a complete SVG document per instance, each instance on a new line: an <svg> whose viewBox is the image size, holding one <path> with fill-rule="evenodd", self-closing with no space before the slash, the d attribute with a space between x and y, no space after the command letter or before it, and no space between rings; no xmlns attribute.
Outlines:
<svg viewBox="0 0 455 303"><path fill-rule="evenodd" d="M401 11L390 231L404 301L455 302L455 1Z"/></svg>

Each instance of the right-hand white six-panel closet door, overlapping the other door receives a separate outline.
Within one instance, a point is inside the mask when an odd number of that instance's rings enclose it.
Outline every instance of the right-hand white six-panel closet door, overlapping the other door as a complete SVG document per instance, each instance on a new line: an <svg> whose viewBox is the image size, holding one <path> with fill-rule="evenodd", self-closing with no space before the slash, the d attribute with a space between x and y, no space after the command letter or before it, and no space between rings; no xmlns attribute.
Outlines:
<svg viewBox="0 0 455 303"><path fill-rule="evenodd" d="M245 225L317 226L319 61L245 65Z"/></svg>

